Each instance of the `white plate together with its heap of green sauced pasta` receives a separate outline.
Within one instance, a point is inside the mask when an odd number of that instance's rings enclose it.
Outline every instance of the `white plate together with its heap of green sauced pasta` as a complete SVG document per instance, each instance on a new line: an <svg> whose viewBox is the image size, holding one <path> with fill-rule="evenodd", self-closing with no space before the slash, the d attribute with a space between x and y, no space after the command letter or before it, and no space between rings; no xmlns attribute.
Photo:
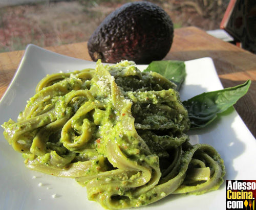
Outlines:
<svg viewBox="0 0 256 210"><path fill-rule="evenodd" d="M223 88L212 59L185 61L179 93L146 67L28 45L0 101L0 208L225 209L256 142L233 108L188 130L181 101Z"/></svg>

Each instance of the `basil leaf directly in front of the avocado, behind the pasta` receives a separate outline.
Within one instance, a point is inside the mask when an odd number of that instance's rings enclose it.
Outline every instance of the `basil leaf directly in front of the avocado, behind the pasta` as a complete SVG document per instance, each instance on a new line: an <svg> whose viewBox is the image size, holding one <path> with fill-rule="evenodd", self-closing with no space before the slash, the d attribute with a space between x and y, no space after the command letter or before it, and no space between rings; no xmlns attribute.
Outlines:
<svg viewBox="0 0 256 210"><path fill-rule="evenodd" d="M144 72L156 72L164 76L177 85L177 90L186 77L184 61L177 60L152 61Z"/></svg>

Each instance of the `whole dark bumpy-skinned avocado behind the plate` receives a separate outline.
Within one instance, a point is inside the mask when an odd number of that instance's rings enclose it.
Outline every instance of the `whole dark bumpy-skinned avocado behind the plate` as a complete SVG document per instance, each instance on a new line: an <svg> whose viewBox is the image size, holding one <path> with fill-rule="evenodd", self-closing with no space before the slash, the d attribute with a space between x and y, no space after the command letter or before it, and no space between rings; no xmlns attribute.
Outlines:
<svg viewBox="0 0 256 210"><path fill-rule="evenodd" d="M173 43L173 22L150 2L127 3L107 16L88 41L91 58L116 63L161 60Z"/></svg>

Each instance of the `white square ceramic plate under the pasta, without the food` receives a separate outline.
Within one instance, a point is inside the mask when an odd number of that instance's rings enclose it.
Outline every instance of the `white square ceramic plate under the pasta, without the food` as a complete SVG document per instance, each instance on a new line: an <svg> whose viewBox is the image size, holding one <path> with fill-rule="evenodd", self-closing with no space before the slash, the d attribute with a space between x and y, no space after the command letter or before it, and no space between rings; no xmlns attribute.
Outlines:
<svg viewBox="0 0 256 210"><path fill-rule="evenodd" d="M95 62L28 45L17 73L0 101L0 124L9 118L16 120L26 101L34 95L36 84L47 74L87 67L95 67ZM146 66L138 67L143 69ZM210 58L186 61L186 72L181 90L182 100L222 88ZM3 128L0 128L0 132L0 209L103 209L98 203L88 201L86 188L75 180L27 169L22 155L15 152L4 139ZM217 149L225 161L225 179L256 179L256 141L235 110L207 128L191 132L190 137L193 143L206 143ZM167 196L142 208L225 209L225 183L214 192L200 196Z"/></svg>

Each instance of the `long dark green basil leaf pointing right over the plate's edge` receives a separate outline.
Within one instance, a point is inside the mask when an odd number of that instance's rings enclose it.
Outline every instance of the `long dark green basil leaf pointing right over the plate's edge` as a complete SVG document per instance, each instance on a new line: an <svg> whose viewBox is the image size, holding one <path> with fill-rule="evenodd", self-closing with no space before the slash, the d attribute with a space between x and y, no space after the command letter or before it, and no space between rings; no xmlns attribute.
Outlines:
<svg viewBox="0 0 256 210"><path fill-rule="evenodd" d="M222 90L204 92L187 101L183 105L188 111L191 128L200 128L208 125L217 116L234 105L249 89L251 81Z"/></svg>

